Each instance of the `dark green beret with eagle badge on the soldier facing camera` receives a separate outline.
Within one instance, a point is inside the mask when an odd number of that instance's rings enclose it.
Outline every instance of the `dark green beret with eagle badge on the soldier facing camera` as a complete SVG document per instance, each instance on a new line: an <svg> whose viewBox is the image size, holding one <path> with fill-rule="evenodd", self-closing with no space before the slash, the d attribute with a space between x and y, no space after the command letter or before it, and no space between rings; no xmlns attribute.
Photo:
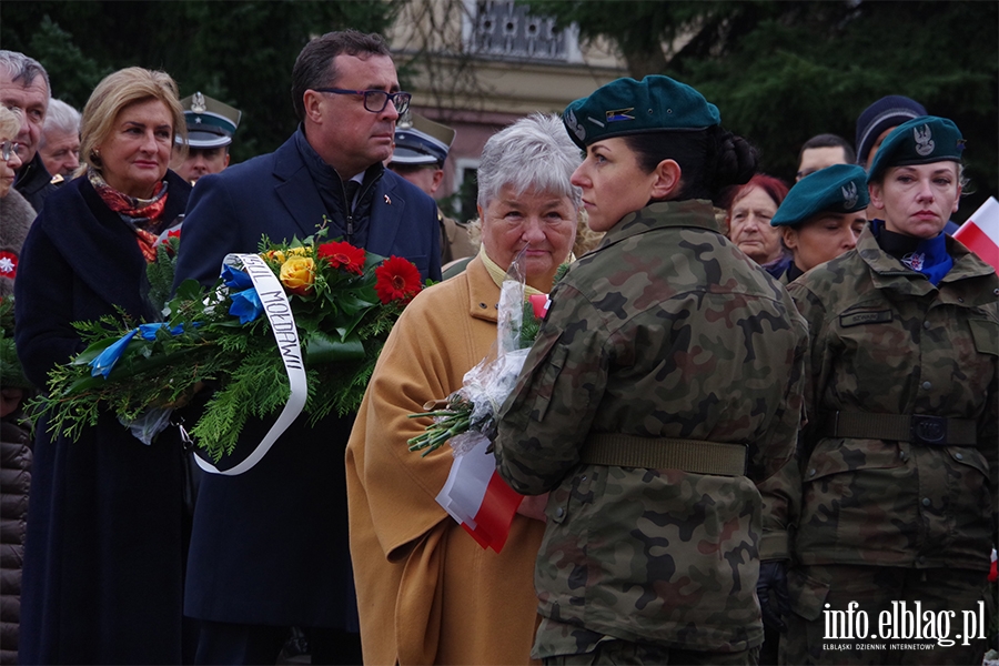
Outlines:
<svg viewBox="0 0 999 666"><path fill-rule="evenodd" d="M878 180L889 167L960 162L965 140L952 121L922 115L895 128L875 153L867 182Z"/></svg>

